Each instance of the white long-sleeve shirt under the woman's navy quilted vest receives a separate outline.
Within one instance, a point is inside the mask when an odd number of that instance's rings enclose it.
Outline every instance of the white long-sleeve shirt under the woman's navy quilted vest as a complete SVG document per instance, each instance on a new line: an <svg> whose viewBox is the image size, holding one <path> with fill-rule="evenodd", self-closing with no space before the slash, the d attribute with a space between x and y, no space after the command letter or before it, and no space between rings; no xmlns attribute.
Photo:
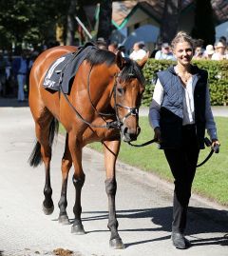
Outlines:
<svg viewBox="0 0 228 256"><path fill-rule="evenodd" d="M183 119L182 119L182 125L190 125L195 124L195 107L194 107L194 89L193 85L196 85L196 83L193 83L193 79L189 79L186 88L183 89ZM158 79L153 99L150 105L149 109L149 122L152 128L160 127L160 109L161 104L163 101L163 87L161 86L161 82ZM210 93L208 86L206 87L206 108L205 108L205 119L206 119L206 129L207 133L210 136L211 139L217 139L217 128L216 123L214 121L214 117L212 114L211 104L210 104Z"/></svg>

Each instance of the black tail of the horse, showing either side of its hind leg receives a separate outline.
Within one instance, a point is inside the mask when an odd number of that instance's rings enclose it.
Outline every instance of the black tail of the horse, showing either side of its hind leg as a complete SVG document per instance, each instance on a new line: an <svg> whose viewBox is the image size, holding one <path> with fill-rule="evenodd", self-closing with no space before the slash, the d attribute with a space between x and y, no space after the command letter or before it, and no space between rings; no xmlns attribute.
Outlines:
<svg viewBox="0 0 228 256"><path fill-rule="evenodd" d="M55 134L59 131L59 122L57 119L53 118L50 126L49 126L49 135L48 141L50 148L52 147ZM41 156L41 145L37 141L35 147L32 149L32 152L28 158L28 163L30 167L38 167L42 163L42 156Z"/></svg>

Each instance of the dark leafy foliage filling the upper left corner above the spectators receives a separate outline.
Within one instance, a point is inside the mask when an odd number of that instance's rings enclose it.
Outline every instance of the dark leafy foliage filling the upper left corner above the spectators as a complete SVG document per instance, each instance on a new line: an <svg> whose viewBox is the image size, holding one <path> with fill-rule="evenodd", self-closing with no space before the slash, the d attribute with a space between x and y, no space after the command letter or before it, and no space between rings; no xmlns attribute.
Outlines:
<svg viewBox="0 0 228 256"><path fill-rule="evenodd" d="M11 42L37 45L55 38L55 25L66 21L68 0L1 0L0 48Z"/></svg>

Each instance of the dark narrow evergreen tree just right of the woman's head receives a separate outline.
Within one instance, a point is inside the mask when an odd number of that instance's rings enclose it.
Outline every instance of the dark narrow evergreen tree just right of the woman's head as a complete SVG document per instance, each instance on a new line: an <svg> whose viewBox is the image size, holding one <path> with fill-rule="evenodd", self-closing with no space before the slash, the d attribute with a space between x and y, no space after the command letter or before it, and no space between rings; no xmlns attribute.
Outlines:
<svg viewBox="0 0 228 256"><path fill-rule="evenodd" d="M202 39L204 46L214 45L216 30L211 1L195 0L195 3L196 13L192 36L196 39Z"/></svg>

